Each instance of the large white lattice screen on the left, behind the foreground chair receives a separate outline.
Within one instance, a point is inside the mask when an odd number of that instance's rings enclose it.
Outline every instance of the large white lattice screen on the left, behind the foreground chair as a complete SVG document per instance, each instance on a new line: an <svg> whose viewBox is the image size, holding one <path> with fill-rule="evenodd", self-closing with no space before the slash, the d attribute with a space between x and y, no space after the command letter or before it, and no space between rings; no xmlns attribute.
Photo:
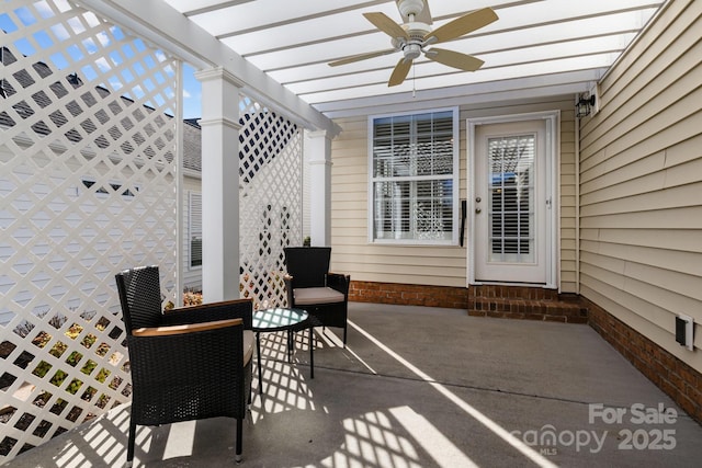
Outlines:
<svg viewBox="0 0 702 468"><path fill-rule="evenodd" d="M117 271L176 298L180 64L64 0L0 26L1 464L129 400Z"/></svg>

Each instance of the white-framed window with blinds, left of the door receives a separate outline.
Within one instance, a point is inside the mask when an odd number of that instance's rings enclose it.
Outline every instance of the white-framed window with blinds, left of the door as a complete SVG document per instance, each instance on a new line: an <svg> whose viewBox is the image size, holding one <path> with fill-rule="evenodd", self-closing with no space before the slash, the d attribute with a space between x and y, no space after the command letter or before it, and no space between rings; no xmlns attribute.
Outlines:
<svg viewBox="0 0 702 468"><path fill-rule="evenodd" d="M456 243L457 110L370 118L374 242Z"/></svg>

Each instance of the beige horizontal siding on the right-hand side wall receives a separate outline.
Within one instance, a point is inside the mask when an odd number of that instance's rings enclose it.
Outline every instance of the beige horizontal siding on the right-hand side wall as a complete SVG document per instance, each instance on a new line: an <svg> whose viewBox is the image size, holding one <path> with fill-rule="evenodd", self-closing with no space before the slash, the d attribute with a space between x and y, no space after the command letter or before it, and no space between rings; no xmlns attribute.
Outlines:
<svg viewBox="0 0 702 468"><path fill-rule="evenodd" d="M702 372L702 2L669 2L600 83L582 122L581 293Z"/></svg>

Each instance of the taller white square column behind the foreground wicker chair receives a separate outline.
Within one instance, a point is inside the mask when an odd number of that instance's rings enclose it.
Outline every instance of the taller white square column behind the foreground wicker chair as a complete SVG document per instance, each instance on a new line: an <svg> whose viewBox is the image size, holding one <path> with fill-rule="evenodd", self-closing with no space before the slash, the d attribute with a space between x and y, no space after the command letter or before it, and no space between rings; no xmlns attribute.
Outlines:
<svg viewBox="0 0 702 468"><path fill-rule="evenodd" d="M207 303L239 297L239 90L219 68L201 70L202 287Z"/></svg>

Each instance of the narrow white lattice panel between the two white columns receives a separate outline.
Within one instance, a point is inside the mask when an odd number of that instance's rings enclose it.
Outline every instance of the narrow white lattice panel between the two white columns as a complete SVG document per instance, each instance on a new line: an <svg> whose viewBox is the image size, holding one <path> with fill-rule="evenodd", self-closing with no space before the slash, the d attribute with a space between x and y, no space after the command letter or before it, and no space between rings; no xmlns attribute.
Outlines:
<svg viewBox="0 0 702 468"><path fill-rule="evenodd" d="M247 96L239 107L241 297L283 306L283 248L302 243L302 134Z"/></svg>

